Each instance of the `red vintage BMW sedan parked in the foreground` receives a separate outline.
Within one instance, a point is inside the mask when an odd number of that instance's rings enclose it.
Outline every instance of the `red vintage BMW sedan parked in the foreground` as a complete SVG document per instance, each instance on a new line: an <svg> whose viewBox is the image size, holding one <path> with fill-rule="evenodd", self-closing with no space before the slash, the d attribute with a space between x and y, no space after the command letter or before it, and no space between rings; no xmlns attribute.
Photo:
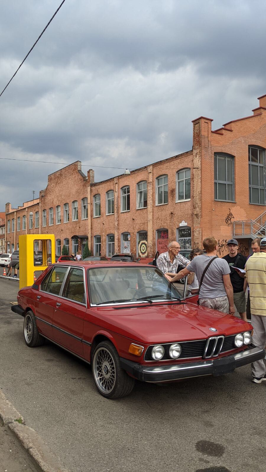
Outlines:
<svg viewBox="0 0 266 472"><path fill-rule="evenodd" d="M101 395L128 395L135 379L166 382L223 375L262 359L249 323L198 306L156 267L133 262L51 264L11 310L29 347L44 338L92 365ZM148 271L148 272L149 272Z"/></svg>

